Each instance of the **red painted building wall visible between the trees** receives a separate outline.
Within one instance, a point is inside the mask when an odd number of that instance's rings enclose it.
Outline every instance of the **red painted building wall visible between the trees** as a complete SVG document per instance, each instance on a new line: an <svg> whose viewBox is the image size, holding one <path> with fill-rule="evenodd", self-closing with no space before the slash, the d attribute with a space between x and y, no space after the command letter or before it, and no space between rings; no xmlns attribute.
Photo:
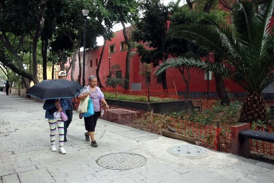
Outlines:
<svg viewBox="0 0 274 183"><path fill-rule="evenodd" d="M129 28L127 29L129 30ZM126 53L127 50L120 50L121 48L121 43L124 42L124 35L123 31L116 31L115 32L115 37L112 38L111 41L107 41L103 57L102 57L102 62L100 65L100 71L99 71L99 76L102 82L102 85L105 86L104 82L106 79L106 76L109 74L109 59L108 57L110 56L110 63L115 63L119 64L121 67L122 71L122 76L124 77L125 75L125 66L126 66ZM114 53L109 53L109 47L111 45L115 46L115 52ZM148 48L148 45L144 43L144 46ZM100 54L102 51L102 46L100 46L98 49L89 49L86 50L86 64L85 64L85 79L86 82L85 84L88 84L88 77L90 75L96 75L96 59L100 59ZM146 84L144 82L144 78L142 75L139 74L140 71L140 62L139 59L140 57L138 56L138 53L135 52L135 49L132 49L132 52L135 53L132 57L130 57L130 89L131 89L131 83L141 83L142 89L146 88ZM82 53L81 59L82 59ZM209 60L213 60L213 55L209 57ZM82 62L82 61L81 61ZM91 65L92 62L92 65ZM152 67L152 73L154 72L155 68ZM186 71L185 71L186 73ZM76 66L75 66L75 75L74 78L78 78L79 74L79 65L78 65L78 57L76 61ZM182 75L177 69L168 69L166 72L166 78L167 78L167 85L168 88L174 88L174 83L176 85L177 91L178 92L185 92L186 85L184 81L182 80ZM70 72L68 73L68 79L70 79ZM82 79L81 79L82 80ZM151 89L162 89L162 83L157 83L157 79L153 78L153 74L151 74L151 83L150 83L150 88ZM82 83L82 81L81 81ZM244 90L234 83L231 79L224 79L225 87L228 88L229 92L244 92ZM194 71L191 69L190 71L190 87L189 91L190 92L207 92L207 79L205 79L204 73L199 72L199 71ZM215 81L214 81L214 76L212 76L212 79L209 80L209 92L215 92Z"/></svg>

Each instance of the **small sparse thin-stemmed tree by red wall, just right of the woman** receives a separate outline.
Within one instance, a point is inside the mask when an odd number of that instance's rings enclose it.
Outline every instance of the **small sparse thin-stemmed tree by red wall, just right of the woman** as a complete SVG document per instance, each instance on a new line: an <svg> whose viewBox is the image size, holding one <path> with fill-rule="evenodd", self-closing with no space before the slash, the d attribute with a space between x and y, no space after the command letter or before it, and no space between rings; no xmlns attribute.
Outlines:
<svg viewBox="0 0 274 183"><path fill-rule="evenodd" d="M106 77L104 77L105 79ZM105 81L106 86L111 86L112 88L114 88L115 90L115 98L117 96L116 93L116 86L120 85L122 87L124 87L125 83L128 79L122 77L122 71L120 68L119 64L112 64L111 66L111 71L110 71L110 76L107 77L107 80Z"/></svg>

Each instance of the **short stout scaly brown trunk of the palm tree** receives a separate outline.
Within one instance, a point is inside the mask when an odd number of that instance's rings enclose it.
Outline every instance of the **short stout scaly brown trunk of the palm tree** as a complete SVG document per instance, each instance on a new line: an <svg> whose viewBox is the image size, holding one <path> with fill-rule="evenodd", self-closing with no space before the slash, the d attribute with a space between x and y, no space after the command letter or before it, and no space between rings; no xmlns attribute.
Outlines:
<svg viewBox="0 0 274 183"><path fill-rule="evenodd" d="M265 109L265 102L259 93L247 93L245 102L241 108L241 115L239 122L257 122L261 120L267 122L267 110Z"/></svg>

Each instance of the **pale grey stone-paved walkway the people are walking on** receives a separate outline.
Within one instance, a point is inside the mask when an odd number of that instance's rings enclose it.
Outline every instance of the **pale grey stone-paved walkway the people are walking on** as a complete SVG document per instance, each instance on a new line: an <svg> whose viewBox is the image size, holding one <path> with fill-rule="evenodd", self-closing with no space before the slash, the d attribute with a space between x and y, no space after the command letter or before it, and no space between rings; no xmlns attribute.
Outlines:
<svg viewBox="0 0 274 183"><path fill-rule="evenodd" d="M167 149L180 140L98 120L97 148L84 139L84 120L74 111L68 128L67 154L50 151L43 103L0 92L0 183L27 182L274 182L274 166L211 151L200 159L178 158ZM112 170L96 160L112 153L146 158L143 166Z"/></svg>

